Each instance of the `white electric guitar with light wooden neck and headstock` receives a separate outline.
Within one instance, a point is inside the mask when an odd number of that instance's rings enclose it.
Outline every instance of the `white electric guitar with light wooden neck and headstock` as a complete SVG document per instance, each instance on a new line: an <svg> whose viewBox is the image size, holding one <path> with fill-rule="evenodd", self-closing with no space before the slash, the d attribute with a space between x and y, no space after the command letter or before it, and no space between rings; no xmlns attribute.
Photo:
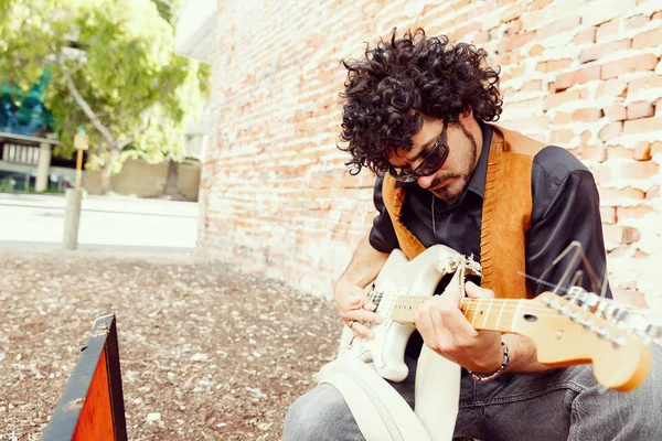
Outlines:
<svg viewBox="0 0 662 441"><path fill-rule="evenodd" d="M405 346L415 329L416 310L429 300L446 273L456 272L451 283L461 290L466 271L480 273L480 266L444 245L428 248L412 261L402 251L393 251L370 292L384 322L371 326L374 340L354 337L345 326L341 356L371 363L383 378L404 380L408 374ZM477 330L531 338L541 364L592 363L598 383L619 391L637 387L647 377L648 342L662 333L642 315L580 288L565 298L552 292L533 300L466 298L461 310Z"/></svg>

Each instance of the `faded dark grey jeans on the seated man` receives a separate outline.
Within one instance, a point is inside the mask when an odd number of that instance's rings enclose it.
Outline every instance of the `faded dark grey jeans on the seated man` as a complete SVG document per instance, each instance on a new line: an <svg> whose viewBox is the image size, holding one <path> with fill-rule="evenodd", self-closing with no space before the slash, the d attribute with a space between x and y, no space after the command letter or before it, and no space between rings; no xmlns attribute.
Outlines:
<svg viewBox="0 0 662 441"><path fill-rule="evenodd" d="M456 438L517 440L662 440L662 347L651 345L647 379L629 392L606 390L590 365L536 374L503 374L477 383L462 369ZM414 406L415 362L393 386ZM342 395L317 386L289 408L284 441L362 441Z"/></svg>

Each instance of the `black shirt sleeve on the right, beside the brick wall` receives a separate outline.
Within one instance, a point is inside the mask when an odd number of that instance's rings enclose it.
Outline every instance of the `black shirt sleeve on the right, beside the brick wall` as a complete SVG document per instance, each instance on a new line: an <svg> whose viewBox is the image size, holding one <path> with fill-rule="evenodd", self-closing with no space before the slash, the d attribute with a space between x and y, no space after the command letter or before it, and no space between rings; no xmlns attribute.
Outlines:
<svg viewBox="0 0 662 441"><path fill-rule="evenodd" d="M534 162L532 227L526 241L530 283L536 295L554 290L558 283L562 283L559 293L577 284L600 294L606 283L606 295L611 298L606 279L607 256L600 202L594 176L565 149L553 149L564 151L560 158L558 152L554 154L557 162ZM586 260L573 250L554 263L573 241L581 245ZM575 279L577 275L580 275L579 280Z"/></svg>

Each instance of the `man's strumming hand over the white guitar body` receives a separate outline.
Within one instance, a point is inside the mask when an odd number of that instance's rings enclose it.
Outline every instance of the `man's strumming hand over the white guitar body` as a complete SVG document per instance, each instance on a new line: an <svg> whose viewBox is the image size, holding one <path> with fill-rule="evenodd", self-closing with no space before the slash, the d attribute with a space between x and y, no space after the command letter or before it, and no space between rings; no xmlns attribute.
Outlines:
<svg viewBox="0 0 662 441"><path fill-rule="evenodd" d="M341 278L333 292L335 306L343 323L359 338L374 338L375 334L366 324L384 322L384 319L374 312L377 306L367 299L371 288L370 283L366 288L361 288Z"/></svg>

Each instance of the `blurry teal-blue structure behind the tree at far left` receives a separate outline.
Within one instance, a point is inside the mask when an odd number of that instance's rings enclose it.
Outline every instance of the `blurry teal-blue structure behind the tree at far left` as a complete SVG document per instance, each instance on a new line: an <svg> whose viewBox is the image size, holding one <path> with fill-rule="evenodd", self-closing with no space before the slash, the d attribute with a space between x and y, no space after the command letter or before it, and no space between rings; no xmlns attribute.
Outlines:
<svg viewBox="0 0 662 441"><path fill-rule="evenodd" d="M46 67L28 94L7 83L0 86L0 132L42 138L52 131L53 116L42 103L50 80L51 72Z"/></svg>

